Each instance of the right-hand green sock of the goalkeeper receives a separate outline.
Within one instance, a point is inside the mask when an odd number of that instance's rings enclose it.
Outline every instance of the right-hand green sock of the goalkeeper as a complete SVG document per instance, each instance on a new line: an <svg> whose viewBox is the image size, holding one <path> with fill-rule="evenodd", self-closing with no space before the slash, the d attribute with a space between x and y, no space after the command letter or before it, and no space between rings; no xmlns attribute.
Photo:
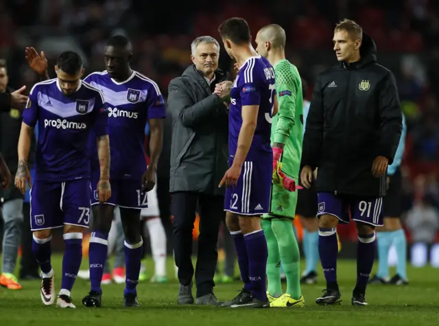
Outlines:
<svg viewBox="0 0 439 326"><path fill-rule="evenodd" d="M287 294L293 299L302 296L300 291L300 253L290 218L274 218L272 231L276 236L283 270L287 277Z"/></svg>

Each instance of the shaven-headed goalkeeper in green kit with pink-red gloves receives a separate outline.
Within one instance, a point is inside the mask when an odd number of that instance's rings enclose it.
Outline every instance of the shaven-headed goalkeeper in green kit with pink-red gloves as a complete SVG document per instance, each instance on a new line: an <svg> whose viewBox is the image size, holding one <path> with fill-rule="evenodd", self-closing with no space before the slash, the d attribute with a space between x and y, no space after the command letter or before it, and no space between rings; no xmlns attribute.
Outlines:
<svg viewBox="0 0 439 326"><path fill-rule="evenodd" d="M267 296L270 307L302 307L300 256L292 220L296 214L298 174L302 156L302 81L285 60L285 31L279 25L259 30L257 52L274 67L278 114L272 118L273 185L270 214L261 220L268 244ZM281 261L287 277L287 291L281 287Z"/></svg>

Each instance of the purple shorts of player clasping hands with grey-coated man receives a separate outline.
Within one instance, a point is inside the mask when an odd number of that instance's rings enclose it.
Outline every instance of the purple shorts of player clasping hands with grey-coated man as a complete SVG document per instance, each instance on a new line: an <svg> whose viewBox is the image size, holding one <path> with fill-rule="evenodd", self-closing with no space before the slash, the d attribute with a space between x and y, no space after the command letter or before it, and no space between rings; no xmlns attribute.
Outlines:
<svg viewBox="0 0 439 326"><path fill-rule="evenodd" d="M228 161L230 167L233 158ZM245 161L236 187L226 188L224 210L243 216L270 213L272 168L272 156L262 156L258 161Z"/></svg>

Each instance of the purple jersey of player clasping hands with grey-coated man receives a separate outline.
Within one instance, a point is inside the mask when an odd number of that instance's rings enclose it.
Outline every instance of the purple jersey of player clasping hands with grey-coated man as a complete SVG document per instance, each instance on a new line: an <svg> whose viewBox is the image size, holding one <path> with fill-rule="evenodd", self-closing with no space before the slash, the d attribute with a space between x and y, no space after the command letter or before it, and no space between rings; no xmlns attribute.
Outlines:
<svg viewBox="0 0 439 326"><path fill-rule="evenodd" d="M259 105L256 130L246 160L272 152L270 145L272 110L274 106L274 69L270 62L261 56L248 58L239 69L233 88L230 91L228 150L235 155L239 130L241 130L242 106Z"/></svg>

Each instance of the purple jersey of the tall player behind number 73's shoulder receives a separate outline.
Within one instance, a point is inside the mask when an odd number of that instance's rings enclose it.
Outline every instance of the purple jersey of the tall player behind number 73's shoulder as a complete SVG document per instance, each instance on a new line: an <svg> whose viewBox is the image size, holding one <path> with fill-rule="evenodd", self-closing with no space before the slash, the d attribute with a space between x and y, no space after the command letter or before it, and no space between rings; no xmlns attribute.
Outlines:
<svg viewBox="0 0 439 326"><path fill-rule="evenodd" d="M137 71L132 71L124 82L116 82L106 71L91 73L84 80L104 93L108 108L110 178L140 179L146 170L147 120L166 117L165 101L158 85ZM96 145L91 162L92 171L99 172Z"/></svg>

